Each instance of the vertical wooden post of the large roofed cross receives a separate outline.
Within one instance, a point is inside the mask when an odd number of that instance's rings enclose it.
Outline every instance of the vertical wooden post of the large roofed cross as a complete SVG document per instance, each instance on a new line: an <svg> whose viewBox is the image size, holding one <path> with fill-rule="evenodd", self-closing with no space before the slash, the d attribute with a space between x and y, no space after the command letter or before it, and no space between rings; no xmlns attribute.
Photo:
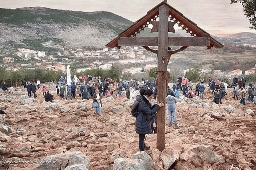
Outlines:
<svg viewBox="0 0 256 170"><path fill-rule="evenodd" d="M158 102L164 102L166 98L167 78L167 45L168 45L168 6L159 7L158 25ZM156 148L163 151L165 146L165 106L157 111L157 142Z"/></svg>

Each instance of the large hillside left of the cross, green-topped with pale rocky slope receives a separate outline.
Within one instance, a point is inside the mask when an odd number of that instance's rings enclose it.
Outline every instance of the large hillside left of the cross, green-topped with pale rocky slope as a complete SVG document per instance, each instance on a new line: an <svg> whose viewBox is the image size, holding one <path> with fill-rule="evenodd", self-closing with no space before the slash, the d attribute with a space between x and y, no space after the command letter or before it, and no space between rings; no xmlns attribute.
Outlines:
<svg viewBox="0 0 256 170"><path fill-rule="evenodd" d="M0 8L0 44L3 48L30 42L51 42L64 47L102 48L133 22L111 12L79 12L44 7ZM146 29L141 33L149 33ZM41 47L42 48L42 47Z"/></svg>

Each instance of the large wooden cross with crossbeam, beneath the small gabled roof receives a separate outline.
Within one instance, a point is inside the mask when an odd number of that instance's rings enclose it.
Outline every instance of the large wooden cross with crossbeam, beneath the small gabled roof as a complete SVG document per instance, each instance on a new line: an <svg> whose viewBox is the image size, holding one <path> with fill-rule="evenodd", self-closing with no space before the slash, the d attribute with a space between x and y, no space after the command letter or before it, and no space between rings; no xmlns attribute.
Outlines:
<svg viewBox="0 0 256 170"><path fill-rule="evenodd" d="M166 98L167 87L167 65L170 59L168 55L168 45L183 46L176 52L184 50L187 46L209 46L208 37L168 37L168 30L173 30L173 25L168 21L168 6L163 4L159 7L158 37L136 38L124 37L118 40L118 46L158 46L158 102L164 102ZM154 28L153 32L156 32ZM149 48L147 50L150 50ZM150 50L152 51L152 50ZM153 52L153 51L152 51ZM163 151L165 148L165 106L157 111L157 149Z"/></svg>

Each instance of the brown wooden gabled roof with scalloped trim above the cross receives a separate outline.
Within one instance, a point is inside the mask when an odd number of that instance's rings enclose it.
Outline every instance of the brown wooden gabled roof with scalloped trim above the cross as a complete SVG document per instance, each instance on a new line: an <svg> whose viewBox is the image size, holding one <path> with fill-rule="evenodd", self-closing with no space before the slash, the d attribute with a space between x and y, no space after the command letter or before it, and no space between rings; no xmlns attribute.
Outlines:
<svg viewBox="0 0 256 170"><path fill-rule="evenodd" d="M144 17L134 22L133 25L131 25L128 29L120 33L117 38L113 39L111 42L106 44L106 46L110 48L120 48L120 46L118 46L118 40L120 38L136 37L136 35L143 31L146 27L148 27L148 25L151 24L152 21L156 21L156 19L159 16L159 7L164 4L168 5L169 7L169 18L173 20L176 24L178 24L179 27L182 27L183 30L186 30L186 32L189 33L192 37L210 38L210 45L207 46L209 49L213 46L215 48L221 48L224 46L223 44L212 38L210 34L208 34L206 31L199 28L194 22L186 18L182 13L180 13L175 8L167 4L167 0L162 1L160 4L158 4L150 11L148 11Z"/></svg>

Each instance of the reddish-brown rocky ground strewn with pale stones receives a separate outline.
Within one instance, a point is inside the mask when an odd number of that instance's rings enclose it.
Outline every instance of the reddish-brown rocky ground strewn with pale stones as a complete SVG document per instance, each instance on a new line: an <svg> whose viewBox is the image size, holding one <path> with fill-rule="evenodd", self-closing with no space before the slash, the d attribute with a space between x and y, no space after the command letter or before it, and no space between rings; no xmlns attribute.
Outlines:
<svg viewBox="0 0 256 170"><path fill-rule="evenodd" d="M86 157L83 160L88 158L85 164L91 170L142 164L134 161L138 159L138 134L127 99L103 98L98 116L91 108L92 99L64 101L55 96L53 103L47 103L41 91L37 94L35 100L27 97L24 88L0 94L0 108L7 113L0 119L0 169L47 169L36 163L16 165L10 161L38 161L73 153ZM148 135L145 142L151 148L146 152L152 159L145 164L152 166L145 165L144 169L228 170L233 165L235 170L256 170L255 106L248 101L246 106L239 105L232 97L229 89L222 105L212 102L208 90L204 100L178 99L179 128L168 127L166 112L166 149L162 153L157 150L156 134ZM57 169L70 169L74 164L70 158L63 162Z"/></svg>

